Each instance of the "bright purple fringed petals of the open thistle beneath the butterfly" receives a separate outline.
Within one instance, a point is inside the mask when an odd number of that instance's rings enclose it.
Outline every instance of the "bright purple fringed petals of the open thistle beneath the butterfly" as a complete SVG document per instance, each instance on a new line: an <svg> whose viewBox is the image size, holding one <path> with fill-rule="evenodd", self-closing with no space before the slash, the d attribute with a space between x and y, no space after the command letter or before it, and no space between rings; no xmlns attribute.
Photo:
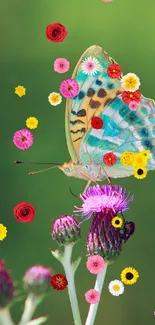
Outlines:
<svg viewBox="0 0 155 325"><path fill-rule="evenodd" d="M129 198L126 189L119 185L90 186L80 198L83 201L82 207L75 207L74 211L88 220L94 213L103 212L104 209L111 209L115 215L128 209L133 196Z"/></svg>

